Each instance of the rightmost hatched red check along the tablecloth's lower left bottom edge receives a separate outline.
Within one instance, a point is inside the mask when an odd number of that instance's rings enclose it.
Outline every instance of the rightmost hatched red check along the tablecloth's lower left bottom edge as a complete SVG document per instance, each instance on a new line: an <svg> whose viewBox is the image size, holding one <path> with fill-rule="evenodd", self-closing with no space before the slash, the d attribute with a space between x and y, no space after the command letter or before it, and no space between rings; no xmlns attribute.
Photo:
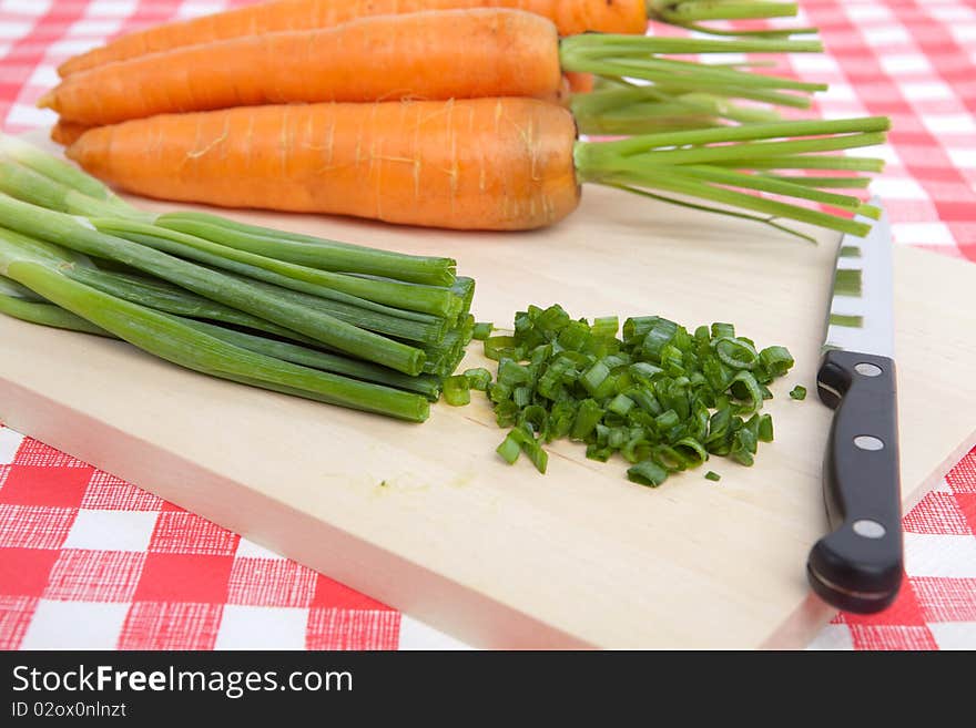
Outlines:
<svg viewBox="0 0 976 728"><path fill-rule="evenodd" d="M388 609L322 609L308 613L306 649L396 649L400 615Z"/></svg>

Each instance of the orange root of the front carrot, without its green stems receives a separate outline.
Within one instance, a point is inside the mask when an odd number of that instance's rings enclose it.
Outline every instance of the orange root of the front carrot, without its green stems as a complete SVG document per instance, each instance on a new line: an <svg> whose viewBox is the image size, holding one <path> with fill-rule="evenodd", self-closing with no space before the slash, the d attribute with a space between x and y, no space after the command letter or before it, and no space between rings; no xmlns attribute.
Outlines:
<svg viewBox="0 0 976 728"><path fill-rule="evenodd" d="M93 129L68 156L163 199L527 229L579 203L575 141L566 109L472 99L161 115Z"/></svg>

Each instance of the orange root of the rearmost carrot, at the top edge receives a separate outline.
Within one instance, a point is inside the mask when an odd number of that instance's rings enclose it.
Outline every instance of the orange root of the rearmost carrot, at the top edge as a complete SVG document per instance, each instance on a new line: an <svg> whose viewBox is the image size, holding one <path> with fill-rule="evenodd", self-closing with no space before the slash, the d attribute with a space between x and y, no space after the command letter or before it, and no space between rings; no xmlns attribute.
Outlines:
<svg viewBox="0 0 976 728"><path fill-rule="evenodd" d="M72 58L58 71L68 76L113 61L183 45L270 32L332 28L366 16L484 7L533 12L555 22L561 35L588 30L643 34L648 25L644 0L276 0L123 35Z"/></svg>

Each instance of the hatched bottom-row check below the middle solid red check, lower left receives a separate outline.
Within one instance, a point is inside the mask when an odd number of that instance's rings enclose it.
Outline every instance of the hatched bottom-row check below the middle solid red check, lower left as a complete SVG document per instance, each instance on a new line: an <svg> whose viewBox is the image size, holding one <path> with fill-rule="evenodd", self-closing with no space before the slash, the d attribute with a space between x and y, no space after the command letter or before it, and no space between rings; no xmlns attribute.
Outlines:
<svg viewBox="0 0 976 728"><path fill-rule="evenodd" d="M129 609L119 649L213 649L220 604L136 602Z"/></svg>

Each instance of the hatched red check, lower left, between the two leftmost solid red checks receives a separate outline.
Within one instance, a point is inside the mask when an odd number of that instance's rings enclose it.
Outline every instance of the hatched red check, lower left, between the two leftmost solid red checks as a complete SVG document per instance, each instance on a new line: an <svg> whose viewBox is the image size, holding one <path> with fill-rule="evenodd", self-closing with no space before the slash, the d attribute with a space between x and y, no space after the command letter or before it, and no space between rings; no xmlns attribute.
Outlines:
<svg viewBox="0 0 976 728"><path fill-rule="evenodd" d="M65 548L51 570L45 599L131 602L145 554Z"/></svg>

